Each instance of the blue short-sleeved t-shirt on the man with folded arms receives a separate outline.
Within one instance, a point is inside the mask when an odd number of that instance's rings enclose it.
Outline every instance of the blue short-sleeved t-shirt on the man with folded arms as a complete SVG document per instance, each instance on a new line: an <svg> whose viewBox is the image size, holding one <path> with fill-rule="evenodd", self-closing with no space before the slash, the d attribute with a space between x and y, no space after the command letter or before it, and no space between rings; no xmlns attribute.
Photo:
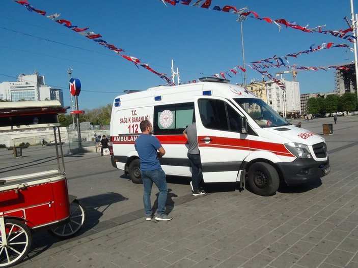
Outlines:
<svg viewBox="0 0 358 268"><path fill-rule="evenodd" d="M160 168L157 150L161 147L161 144L157 137L141 134L135 140L134 147L139 155L141 170L150 171Z"/></svg>

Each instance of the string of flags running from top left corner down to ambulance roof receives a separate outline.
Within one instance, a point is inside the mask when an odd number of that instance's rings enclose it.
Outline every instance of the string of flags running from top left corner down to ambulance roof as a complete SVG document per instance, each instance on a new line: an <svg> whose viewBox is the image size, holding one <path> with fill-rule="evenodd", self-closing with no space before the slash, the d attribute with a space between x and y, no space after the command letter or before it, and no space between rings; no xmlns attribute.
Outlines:
<svg viewBox="0 0 358 268"><path fill-rule="evenodd" d="M41 14L42 16L46 15L46 11L35 9L32 5L29 4L29 2L27 0L20 0L20 1L14 0L14 1L16 3L18 3L18 4L20 4L21 6L24 6L30 12L34 11L34 12L36 12L38 14ZM49 18L51 20L54 20L57 23L60 23L60 24L62 24L64 26L66 26L67 28L71 29L72 31L74 31L74 32L76 32L76 33L78 33L78 34L80 34L80 35L82 35L82 36L84 36L84 37L96 42L97 44L99 44L99 45L101 45L103 47L108 48L109 50L114 51L115 53L119 54L123 58L127 59L127 61L132 62L137 68L139 68L138 67L138 65L139 65L139 66L143 67L144 69L147 69L148 71L158 75L160 78L166 80L169 85L175 85L175 83L166 76L167 74L159 73L159 72L154 71L151 67L149 67L149 64L142 63L139 58L124 55L122 53L122 52L124 52L123 49L117 48L115 45L109 44L107 41L101 39L102 36L100 34L88 31L89 27L79 28L77 25L73 25L71 23L71 21L69 21L69 20L57 19L57 18L60 17L60 15L61 15L61 13L60 14L55 13L55 14L47 16L47 18Z"/></svg>

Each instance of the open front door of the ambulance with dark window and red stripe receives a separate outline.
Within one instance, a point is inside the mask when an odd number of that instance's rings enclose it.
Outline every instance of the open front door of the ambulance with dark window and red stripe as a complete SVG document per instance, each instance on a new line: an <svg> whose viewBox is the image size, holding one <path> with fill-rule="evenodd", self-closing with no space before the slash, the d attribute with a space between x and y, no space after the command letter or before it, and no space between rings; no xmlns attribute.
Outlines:
<svg viewBox="0 0 358 268"><path fill-rule="evenodd" d="M249 155L247 134L240 133L242 114L225 98L198 96L195 115L204 182L236 182Z"/></svg>

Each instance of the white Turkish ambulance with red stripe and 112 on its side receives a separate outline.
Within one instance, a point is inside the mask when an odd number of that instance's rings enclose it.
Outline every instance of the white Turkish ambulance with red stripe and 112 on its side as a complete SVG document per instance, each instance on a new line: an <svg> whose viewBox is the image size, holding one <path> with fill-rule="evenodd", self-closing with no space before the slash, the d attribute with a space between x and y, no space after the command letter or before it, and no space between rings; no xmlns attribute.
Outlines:
<svg viewBox="0 0 358 268"><path fill-rule="evenodd" d="M219 78L157 86L118 96L111 117L111 159L133 183L141 183L134 149L140 123L149 120L166 150L160 164L167 175L191 176L183 130L196 121L205 183L245 180L259 195L279 184L298 185L329 173L325 141L295 127L244 88Z"/></svg>

